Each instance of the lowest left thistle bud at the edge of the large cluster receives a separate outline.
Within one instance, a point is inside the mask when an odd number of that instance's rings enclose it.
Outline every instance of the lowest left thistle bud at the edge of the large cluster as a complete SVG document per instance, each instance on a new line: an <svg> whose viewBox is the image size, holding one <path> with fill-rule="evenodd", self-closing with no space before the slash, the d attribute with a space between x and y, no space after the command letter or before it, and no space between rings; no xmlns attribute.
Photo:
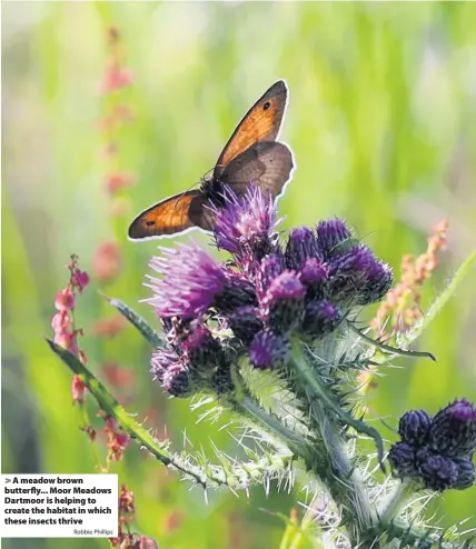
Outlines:
<svg viewBox="0 0 476 549"><path fill-rule="evenodd" d="M172 349L159 349L150 360L150 371L173 397L190 395L190 379L184 358Z"/></svg>

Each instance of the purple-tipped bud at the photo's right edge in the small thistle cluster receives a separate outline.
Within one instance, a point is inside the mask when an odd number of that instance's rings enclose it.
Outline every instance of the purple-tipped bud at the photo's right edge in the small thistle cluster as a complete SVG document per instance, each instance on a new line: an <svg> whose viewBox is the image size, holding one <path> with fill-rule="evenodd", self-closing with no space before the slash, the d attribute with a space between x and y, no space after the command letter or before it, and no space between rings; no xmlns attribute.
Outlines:
<svg viewBox="0 0 476 549"><path fill-rule="evenodd" d="M465 457L476 449L476 408L455 400L433 419L432 447L445 456Z"/></svg>

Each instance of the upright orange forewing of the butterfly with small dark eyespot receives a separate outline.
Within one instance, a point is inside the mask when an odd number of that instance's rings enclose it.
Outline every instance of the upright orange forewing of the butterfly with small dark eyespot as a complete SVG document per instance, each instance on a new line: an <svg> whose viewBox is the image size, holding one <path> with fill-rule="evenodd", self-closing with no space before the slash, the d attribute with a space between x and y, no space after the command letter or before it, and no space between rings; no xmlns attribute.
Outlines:
<svg viewBox="0 0 476 549"><path fill-rule="evenodd" d="M287 98L286 83L278 80L256 101L225 146L214 170L215 179L221 179L227 164L255 143L275 141L281 128Z"/></svg>

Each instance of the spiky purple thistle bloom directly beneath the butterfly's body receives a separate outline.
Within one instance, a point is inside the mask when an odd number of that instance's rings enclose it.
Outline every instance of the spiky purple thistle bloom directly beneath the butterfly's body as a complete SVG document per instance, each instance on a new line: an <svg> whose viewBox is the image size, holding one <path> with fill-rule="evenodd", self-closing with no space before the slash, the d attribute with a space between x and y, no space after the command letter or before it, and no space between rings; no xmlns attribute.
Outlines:
<svg viewBox="0 0 476 549"><path fill-rule="evenodd" d="M225 207L211 207L216 217L214 234L217 247L242 260L260 260L272 248L274 233L280 220L271 194L250 184L242 197L225 188Z"/></svg>

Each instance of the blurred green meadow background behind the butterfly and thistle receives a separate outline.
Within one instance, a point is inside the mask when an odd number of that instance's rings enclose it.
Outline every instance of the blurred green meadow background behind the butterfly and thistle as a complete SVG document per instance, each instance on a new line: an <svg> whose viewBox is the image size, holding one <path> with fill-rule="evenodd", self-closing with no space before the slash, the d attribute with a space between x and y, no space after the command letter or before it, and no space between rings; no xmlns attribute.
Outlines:
<svg viewBox="0 0 476 549"><path fill-rule="evenodd" d="M77 310L91 369L123 369L122 381L102 379L177 448L186 430L197 448L210 451L212 440L235 453L226 431L196 426L186 401L150 382L150 349L133 329L95 336L96 322L113 312L97 290L152 320L138 301L148 296L142 282L156 243L127 241L128 222L212 168L238 120L278 78L290 89L282 139L298 164L280 202L286 227L345 217L398 273L403 254L424 252L433 224L448 217L448 251L424 308L475 247L476 4L4 2L2 12L2 472L95 468L71 406L71 375L43 341L73 252L95 277ZM111 26L132 82L105 94ZM115 106L132 119L111 137L101 120ZM117 153L105 156L111 143ZM121 172L135 183L111 197L105 181ZM113 239L120 270L101 282L97 250ZM405 360L388 370L369 397L374 413L395 425L411 407L434 412L456 396L476 399L475 282L473 270L422 338L437 363ZM284 522L272 513L305 500L299 491L266 498L257 489L249 499L210 492L205 505L199 489L133 447L111 470L136 495L135 530L162 549L278 548ZM437 511L440 526L472 516L469 528L475 509L473 487L435 500L428 513Z"/></svg>

